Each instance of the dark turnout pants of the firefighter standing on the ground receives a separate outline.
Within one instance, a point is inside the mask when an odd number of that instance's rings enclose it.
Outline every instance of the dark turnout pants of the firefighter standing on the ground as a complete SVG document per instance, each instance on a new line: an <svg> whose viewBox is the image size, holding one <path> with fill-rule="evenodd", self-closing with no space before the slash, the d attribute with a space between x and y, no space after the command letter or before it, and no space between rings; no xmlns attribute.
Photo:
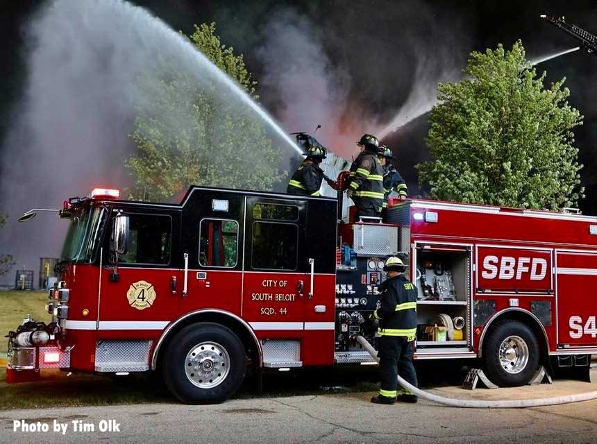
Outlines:
<svg viewBox="0 0 597 444"><path fill-rule="evenodd" d="M396 394L410 395L410 391L401 388L397 391L400 375L410 384L418 387L417 372L412 364L412 349L414 341L407 341L403 336L381 336L379 345L379 372L381 388L379 394L387 398L394 398Z"/></svg>

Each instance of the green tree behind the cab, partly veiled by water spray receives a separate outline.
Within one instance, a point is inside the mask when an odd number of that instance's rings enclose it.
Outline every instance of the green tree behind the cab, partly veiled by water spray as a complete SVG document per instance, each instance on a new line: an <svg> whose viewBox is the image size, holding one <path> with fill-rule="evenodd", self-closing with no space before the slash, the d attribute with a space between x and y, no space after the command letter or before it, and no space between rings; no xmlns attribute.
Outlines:
<svg viewBox="0 0 597 444"><path fill-rule="evenodd" d="M242 55L221 44L215 24L195 26L190 41L258 99ZM285 177L277 167L281 151L262 123L217 82L200 81L174 60L159 78L156 83L149 73L139 79L149 103L138 110L131 135L136 145L126 162L134 178L131 198L166 200L190 185L270 190Z"/></svg>

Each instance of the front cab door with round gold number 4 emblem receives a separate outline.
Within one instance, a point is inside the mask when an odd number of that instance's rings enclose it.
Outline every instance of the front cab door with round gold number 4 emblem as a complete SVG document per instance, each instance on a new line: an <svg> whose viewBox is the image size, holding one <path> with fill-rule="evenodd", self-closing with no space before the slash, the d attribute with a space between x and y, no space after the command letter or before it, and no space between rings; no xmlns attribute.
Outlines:
<svg viewBox="0 0 597 444"><path fill-rule="evenodd" d="M113 245L117 214L128 218L126 252ZM98 325L101 337L158 337L176 316L180 276L180 210L115 207L103 244Z"/></svg>

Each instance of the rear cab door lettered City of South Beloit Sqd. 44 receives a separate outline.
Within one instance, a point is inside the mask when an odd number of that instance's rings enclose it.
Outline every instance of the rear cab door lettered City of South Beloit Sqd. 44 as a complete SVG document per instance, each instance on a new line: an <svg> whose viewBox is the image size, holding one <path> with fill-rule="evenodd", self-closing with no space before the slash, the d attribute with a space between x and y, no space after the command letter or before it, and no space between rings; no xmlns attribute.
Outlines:
<svg viewBox="0 0 597 444"><path fill-rule="evenodd" d="M302 338L310 264L305 202L248 196L242 316L263 337Z"/></svg>

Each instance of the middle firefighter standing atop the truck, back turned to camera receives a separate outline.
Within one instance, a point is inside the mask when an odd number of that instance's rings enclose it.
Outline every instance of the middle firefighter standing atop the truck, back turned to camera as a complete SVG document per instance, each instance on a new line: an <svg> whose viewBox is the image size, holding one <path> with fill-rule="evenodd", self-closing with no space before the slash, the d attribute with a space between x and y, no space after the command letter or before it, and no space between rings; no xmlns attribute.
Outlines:
<svg viewBox="0 0 597 444"><path fill-rule="evenodd" d="M379 142L377 137L364 134L357 145L361 153L351 165L346 196L357 207L360 216L379 217L383 205L383 169L377 157Z"/></svg>

